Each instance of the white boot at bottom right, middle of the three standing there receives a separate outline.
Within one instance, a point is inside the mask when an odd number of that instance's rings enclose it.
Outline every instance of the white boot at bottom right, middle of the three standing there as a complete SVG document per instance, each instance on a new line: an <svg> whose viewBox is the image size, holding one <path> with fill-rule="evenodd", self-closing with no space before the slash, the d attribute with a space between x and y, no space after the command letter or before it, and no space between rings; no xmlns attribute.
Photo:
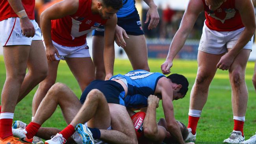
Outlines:
<svg viewBox="0 0 256 144"><path fill-rule="evenodd" d="M241 144L245 140L245 136L242 136L241 131L235 131L233 130L230 137L225 139L223 143L228 144Z"/></svg>

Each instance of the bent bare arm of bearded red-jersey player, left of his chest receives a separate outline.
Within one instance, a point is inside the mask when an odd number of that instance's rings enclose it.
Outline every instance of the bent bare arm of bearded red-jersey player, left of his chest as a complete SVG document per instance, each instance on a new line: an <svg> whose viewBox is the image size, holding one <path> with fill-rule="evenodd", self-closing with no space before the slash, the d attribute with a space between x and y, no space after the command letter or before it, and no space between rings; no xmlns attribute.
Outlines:
<svg viewBox="0 0 256 144"><path fill-rule="evenodd" d="M51 38L51 20L59 19L67 15L72 15L78 10L78 0L63 0L46 9L40 17L41 30L46 46L46 57L54 61L55 53L59 57L58 50L52 44Z"/></svg>

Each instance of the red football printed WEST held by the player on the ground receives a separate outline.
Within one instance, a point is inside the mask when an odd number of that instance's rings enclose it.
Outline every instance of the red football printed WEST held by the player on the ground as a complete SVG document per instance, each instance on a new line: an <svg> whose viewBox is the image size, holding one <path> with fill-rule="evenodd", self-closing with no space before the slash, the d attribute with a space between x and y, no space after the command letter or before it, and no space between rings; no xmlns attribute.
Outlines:
<svg viewBox="0 0 256 144"><path fill-rule="evenodd" d="M143 136L143 121L146 116L145 112L138 112L131 116L132 122L134 123L135 132L137 135L137 139Z"/></svg>

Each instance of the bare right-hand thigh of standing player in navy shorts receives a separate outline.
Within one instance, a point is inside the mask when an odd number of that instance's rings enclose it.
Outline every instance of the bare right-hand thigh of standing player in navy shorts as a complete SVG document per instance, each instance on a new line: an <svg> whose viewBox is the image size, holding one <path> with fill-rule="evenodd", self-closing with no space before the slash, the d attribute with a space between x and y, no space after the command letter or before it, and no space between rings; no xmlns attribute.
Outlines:
<svg viewBox="0 0 256 144"><path fill-rule="evenodd" d="M148 68L148 51L144 35L128 35L124 48L134 69Z"/></svg>

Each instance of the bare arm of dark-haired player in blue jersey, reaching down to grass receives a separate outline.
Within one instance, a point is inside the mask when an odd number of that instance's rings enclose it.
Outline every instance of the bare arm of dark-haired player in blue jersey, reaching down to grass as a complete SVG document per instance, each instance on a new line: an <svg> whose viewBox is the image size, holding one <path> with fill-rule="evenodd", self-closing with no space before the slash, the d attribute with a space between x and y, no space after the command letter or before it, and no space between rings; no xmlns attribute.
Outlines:
<svg viewBox="0 0 256 144"><path fill-rule="evenodd" d="M155 94L161 94L162 96L163 112L167 123L167 130L180 144L185 144L178 123L174 117L173 89L171 88L169 79L162 77L158 80Z"/></svg>

